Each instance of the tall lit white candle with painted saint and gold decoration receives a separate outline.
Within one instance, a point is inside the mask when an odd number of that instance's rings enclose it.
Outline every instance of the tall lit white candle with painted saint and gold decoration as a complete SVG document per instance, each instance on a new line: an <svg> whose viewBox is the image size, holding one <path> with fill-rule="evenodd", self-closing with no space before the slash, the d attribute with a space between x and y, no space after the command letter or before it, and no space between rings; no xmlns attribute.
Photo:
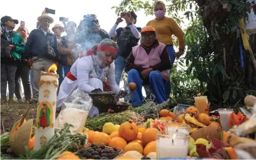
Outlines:
<svg viewBox="0 0 256 160"><path fill-rule="evenodd" d="M57 88L59 75L53 63L48 72L41 72L39 82L38 110L35 129L35 150L39 150L54 136Z"/></svg>

